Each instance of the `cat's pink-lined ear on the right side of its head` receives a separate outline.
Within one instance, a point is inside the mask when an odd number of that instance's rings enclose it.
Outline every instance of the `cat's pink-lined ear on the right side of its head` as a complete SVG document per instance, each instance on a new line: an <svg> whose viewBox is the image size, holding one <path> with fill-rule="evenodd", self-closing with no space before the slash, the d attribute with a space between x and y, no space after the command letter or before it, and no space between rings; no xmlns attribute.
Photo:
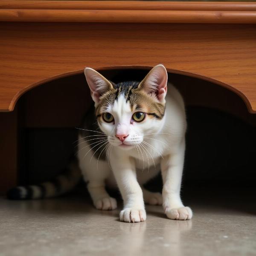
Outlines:
<svg viewBox="0 0 256 256"><path fill-rule="evenodd" d="M159 64L153 67L143 81L139 84L139 88L147 93L154 94L161 102L165 99L167 93L168 75L166 68Z"/></svg>

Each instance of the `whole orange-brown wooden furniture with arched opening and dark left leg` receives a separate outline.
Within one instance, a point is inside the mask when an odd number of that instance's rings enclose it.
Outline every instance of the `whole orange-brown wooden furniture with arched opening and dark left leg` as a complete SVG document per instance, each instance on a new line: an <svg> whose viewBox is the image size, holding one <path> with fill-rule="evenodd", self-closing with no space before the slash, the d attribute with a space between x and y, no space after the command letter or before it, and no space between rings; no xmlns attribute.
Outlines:
<svg viewBox="0 0 256 256"><path fill-rule="evenodd" d="M162 63L233 91L256 113L256 3L2 0L0 21L0 111L10 112L0 113L2 192L17 183L17 100L85 66Z"/></svg>

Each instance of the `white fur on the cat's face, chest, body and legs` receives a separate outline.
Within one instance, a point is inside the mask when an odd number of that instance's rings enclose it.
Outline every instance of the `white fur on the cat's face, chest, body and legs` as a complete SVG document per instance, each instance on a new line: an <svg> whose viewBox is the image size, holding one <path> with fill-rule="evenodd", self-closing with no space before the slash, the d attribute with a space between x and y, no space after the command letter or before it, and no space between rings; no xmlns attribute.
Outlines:
<svg viewBox="0 0 256 256"><path fill-rule="evenodd" d="M163 204L168 218L192 218L191 209L184 207L180 199L186 132L185 108L180 93L168 84L166 111L161 120L146 117L143 122L131 122L133 113L123 96L119 96L107 112L113 115L115 122L102 122L100 125L108 135L101 142L101 149L107 149L106 161L93 157L92 150L88 153L87 142L79 145L78 153L79 166L89 182L88 189L96 208L116 208L115 199L110 198L105 190L105 184L108 184L117 185L122 194L124 207L120 212L121 221L145 221L144 200L146 203ZM124 141L127 146L122 145L116 133L129 134ZM160 170L163 198L159 193L141 188Z"/></svg>

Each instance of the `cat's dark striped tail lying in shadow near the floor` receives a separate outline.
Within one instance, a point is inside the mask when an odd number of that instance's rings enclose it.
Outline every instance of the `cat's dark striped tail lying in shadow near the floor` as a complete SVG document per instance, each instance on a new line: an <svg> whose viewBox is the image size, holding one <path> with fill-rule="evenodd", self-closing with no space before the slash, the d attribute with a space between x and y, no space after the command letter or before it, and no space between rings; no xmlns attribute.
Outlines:
<svg viewBox="0 0 256 256"><path fill-rule="evenodd" d="M53 180L32 186L17 186L7 192L7 198L12 200L42 199L62 195L73 189L79 182L81 171L76 161Z"/></svg>

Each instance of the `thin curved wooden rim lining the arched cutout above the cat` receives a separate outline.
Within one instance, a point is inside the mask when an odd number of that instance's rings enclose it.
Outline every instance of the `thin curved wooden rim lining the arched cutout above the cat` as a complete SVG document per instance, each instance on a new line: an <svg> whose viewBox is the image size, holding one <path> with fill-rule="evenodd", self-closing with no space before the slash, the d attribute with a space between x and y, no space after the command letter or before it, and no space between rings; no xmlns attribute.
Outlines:
<svg viewBox="0 0 256 256"><path fill-rule="evenodd" d="M100 72L102 70L113 70L113 69L116 69L116 70L122 70L122 69L151 70L152 67L153 66L115 66L115 67L112 66L112 67L93 67L93 68ZM185 75L185 76L191 76L191 77L195 77L195 78L202 79L202 80L205 80L205 81L210 81L210 82L212 82L214 84L217 84L217 85L220 85L222 87L225 87L228 90L233 91L234 93L236 93L244 101L244 103L245 103L249 113L252 113L252 114L256 113L256 110L254 110L252 108L252 105L250 104L250 101L247 99L247 97L241 91L239 91L236 88L230 86L229 84L225 84L225 83L223 83L221 81L212 79L212 78L207 77L207 76L202 76L202 75L197 74L197 73L191 73L191 72L187 72L187 71L183 71L183 70L174 70L174 69L170 69L170 68L166 68L166 70L167 70L168 73L174 73L174 74L180 74L180 75ZM12 101L11 101L11 103L9 105L9 109L6 110L6 111L2 110L2 112L13 111L14 108L15 108L15 105L17 103L17 100L20 98L20 96L22 96L27 91L33 89L34 87L40 86L41 84L45 84L45 83L47 83L49 81L54 81L54 80L57 80L57 79L60 79L60 78L64 78L64 77L67 77L67 76L74 76L74 75L78 75L78 74L82 74L82 73L84 73L84 69L76 70L76 71L71 71L71 72L67 72L67 73L62 73L62 74L59 74L57 76L52 76L52 77L49 77L47 79L43 79L41 81L38 81L38 82L36 82L34 84L31 84L31 85L23 88L22 90L20 90L15 95L15 97L12 99Z"/></svg>

